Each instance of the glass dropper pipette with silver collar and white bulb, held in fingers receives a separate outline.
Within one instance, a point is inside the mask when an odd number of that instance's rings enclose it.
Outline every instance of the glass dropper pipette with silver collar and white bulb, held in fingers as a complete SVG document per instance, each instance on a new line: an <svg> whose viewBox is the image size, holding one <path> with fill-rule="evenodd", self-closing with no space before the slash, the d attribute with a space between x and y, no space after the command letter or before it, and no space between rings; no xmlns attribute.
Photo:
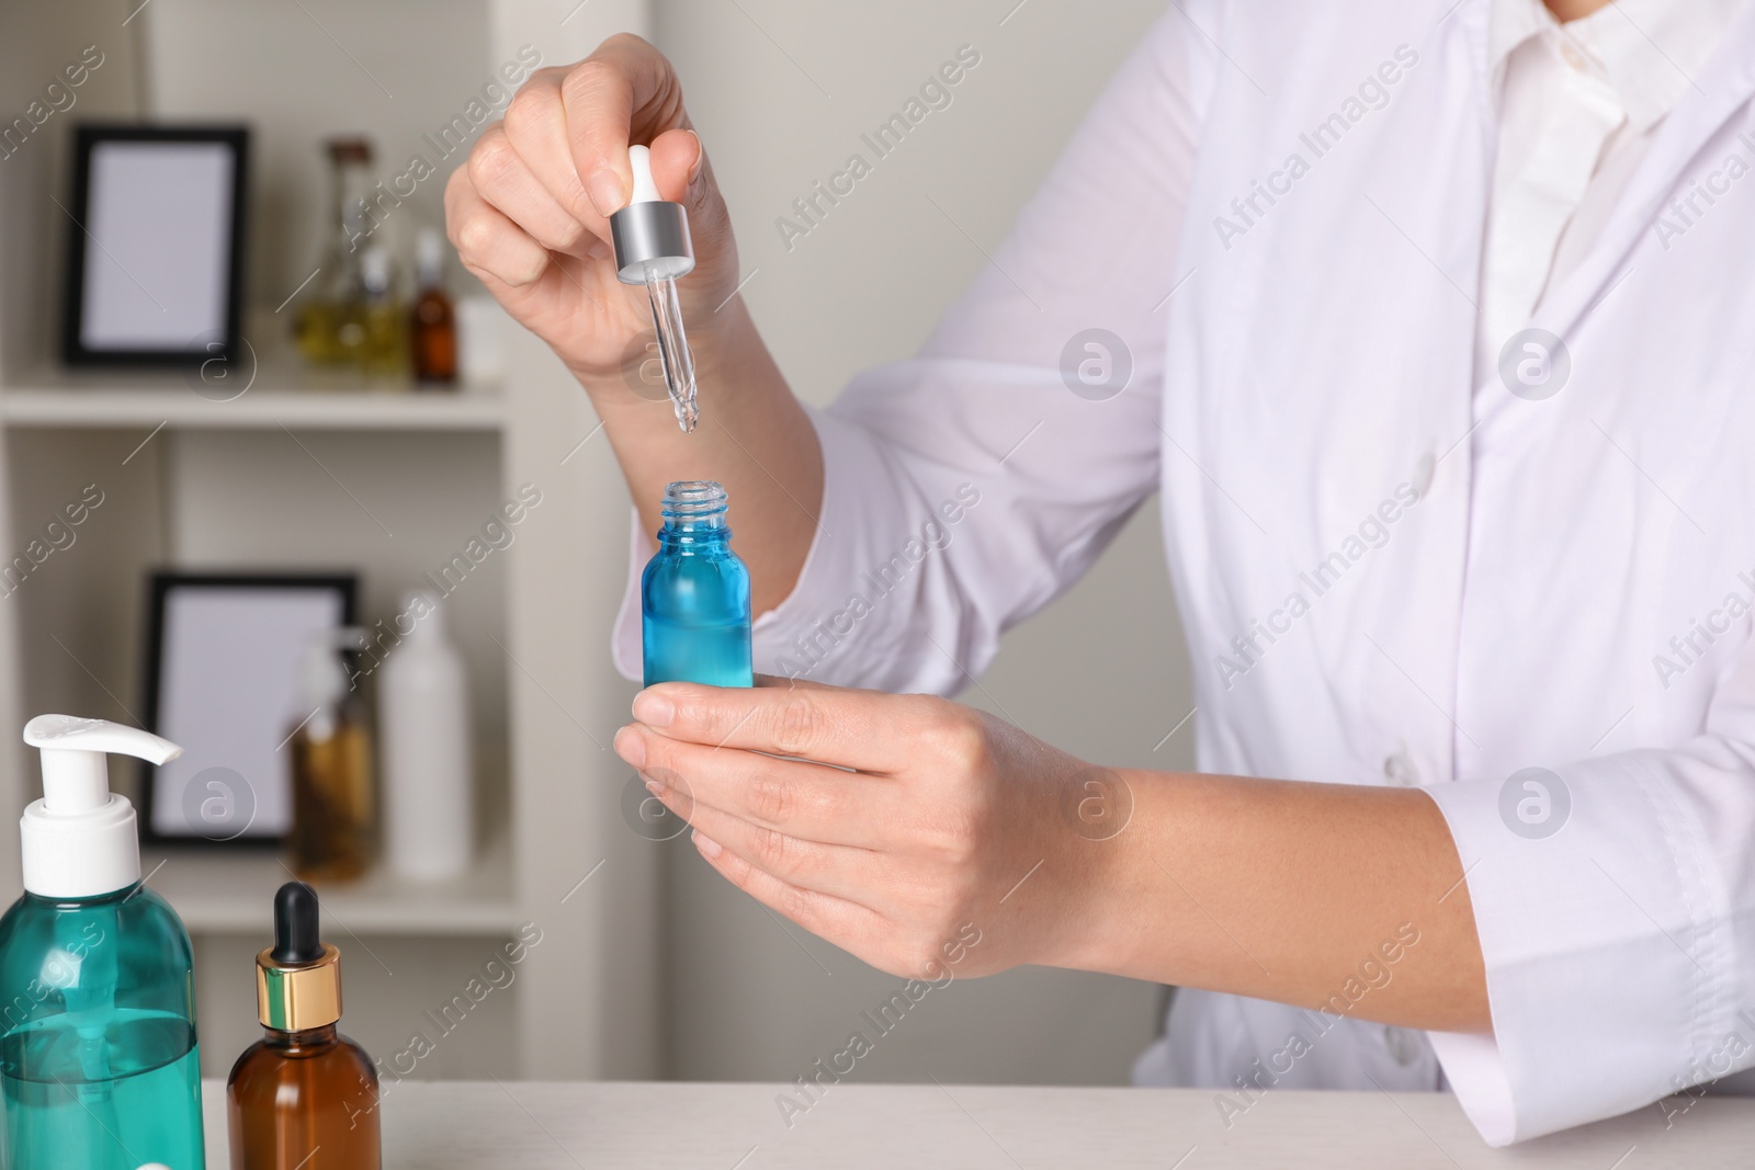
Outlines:
<svg viewBox="0 0 1755 1170"><path fill-rule="evenodd" d="M695 356L688 351L683 303L676 291L677 279L695 270L688 212L681 203L658 196L648 147L630 146L628 167L634 170L634 200L609 218L609 239L616 246L616 275L623 284L646 286L665 393L670 395L677 426L691 432L700 419L695 405Z"/></svg>

